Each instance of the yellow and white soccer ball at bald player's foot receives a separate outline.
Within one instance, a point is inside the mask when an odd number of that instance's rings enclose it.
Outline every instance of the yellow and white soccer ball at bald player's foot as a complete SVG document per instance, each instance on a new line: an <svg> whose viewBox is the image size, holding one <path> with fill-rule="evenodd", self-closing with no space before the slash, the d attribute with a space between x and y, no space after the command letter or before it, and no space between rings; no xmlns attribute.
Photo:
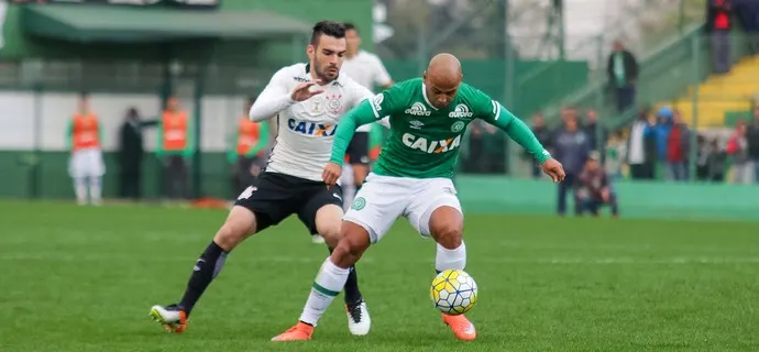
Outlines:
<svg viewBox="0 0 759 352"><path fill-rule="evenodd" d="M447 270L432 280L430 298L438 310L452 316L463 315L477 301L477 284L460 270Z"/></svg>

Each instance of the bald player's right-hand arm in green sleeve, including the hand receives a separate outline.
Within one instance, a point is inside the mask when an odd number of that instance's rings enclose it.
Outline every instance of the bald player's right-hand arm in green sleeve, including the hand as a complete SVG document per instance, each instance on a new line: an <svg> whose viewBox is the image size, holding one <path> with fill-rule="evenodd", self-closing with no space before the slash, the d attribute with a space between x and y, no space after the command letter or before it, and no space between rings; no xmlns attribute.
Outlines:
<svg viewBox="0 0 759 352"><path fill-rule="evenodd" d="M540 144L532 130L497 101L493 100L492 105L492 113L486 114L484 120L506 132L512 140L527 150L553 182L562 182L565 176L563 167Z"/></svg>

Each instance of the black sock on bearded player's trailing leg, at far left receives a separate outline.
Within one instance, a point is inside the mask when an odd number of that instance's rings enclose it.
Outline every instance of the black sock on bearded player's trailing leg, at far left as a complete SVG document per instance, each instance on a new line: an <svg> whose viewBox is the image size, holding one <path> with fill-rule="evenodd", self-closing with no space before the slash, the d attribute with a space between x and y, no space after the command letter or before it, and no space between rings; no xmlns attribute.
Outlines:
<svg viewBox="0 0 759 352"><path fill-rule="evenodd" d="M206 251L200 254L198 261L195 262L195 267L190 279L187 283L185 295L182 296L179 307L185 309L185 314L189 317L193 307L200 299L200 296L206 290L211 280L219 275L221 267L224 266L227 255L229 252L222 250L216 242L206 248Z"/></svg>

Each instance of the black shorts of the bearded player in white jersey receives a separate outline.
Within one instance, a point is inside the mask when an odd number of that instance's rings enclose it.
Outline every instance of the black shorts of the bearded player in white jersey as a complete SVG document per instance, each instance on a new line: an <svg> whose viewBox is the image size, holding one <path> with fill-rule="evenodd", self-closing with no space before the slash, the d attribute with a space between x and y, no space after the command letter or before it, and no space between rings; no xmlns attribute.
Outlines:
<svg viewBox="0 0 759 352"><path fill-rule="evenodd" d="M342 188L278 173L262 173L254 186L234 202L255 213L256 232L298 215L311 234L317 234L316 213L326 205L342 208Z"/></svg>

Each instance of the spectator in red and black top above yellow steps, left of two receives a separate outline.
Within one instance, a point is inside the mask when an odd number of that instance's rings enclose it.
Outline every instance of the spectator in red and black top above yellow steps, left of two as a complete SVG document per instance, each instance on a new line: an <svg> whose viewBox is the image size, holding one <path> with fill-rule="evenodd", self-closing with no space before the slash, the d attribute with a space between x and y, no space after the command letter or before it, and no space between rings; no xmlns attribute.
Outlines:
<svg viewBox="0 0 759 352"><path fill-rule="evenodd" d="M710 47L714 61L714 72L730 72L730 31L733 29L732 0L706 1L706 32L710 34Z"/></svg>

